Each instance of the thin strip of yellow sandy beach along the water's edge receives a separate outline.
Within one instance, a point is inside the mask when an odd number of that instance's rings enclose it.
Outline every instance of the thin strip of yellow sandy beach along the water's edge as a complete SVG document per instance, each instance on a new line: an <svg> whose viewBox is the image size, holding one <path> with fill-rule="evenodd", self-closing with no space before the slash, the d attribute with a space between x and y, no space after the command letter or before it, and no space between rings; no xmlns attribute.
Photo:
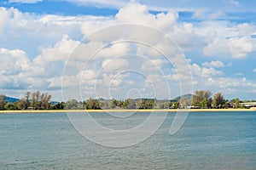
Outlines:
<svg viewBox="0 0 256 170"><path fill-rule="evenodd" d="M0 111L0 114L4 113L65 113L65 112L151 112L151 111L159 111L159 112L177 112L177 111L189 111L189 112L214 112L214 111L256 111L256 108L251 109L148 109L148 110L34 110L34 111Z"/></svg>

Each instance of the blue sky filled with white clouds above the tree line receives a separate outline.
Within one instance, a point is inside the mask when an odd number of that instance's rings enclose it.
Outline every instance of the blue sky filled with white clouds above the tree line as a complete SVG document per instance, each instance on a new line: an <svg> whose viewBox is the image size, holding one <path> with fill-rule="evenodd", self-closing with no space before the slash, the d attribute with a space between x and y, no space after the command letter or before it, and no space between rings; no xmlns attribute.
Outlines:
<svg viewBox="0 0 256 170"><path fill-rule="evenodd" d="M251 0L2 0L0 94L256 99Z"/></svg>

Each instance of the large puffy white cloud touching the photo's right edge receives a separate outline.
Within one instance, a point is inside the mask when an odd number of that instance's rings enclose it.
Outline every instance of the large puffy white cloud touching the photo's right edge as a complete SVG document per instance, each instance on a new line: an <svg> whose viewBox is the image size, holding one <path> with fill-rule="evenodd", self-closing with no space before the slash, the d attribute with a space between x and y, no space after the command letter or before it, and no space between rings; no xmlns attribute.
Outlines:
<svg viewBox="0 0 256 170"><path fill-rule="evenodd" d="M255 38L251 37L256 31L252 24L232 24L228 20L202 21L196 27L197 39L201 43L203 54L213 57L241 59L246 58L255 50ZM203 41L202 41L203 42Z"/></svg>

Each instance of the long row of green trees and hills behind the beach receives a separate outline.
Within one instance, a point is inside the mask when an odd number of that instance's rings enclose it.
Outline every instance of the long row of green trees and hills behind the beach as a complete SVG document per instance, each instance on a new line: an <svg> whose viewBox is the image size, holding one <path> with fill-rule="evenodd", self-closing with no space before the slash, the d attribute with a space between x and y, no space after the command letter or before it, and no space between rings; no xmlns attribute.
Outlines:
<svg viewBox="0 0 256 170"><path fill-rule="evenodd" d="M240 99L224 99L224 95L213 95L210 90L198 90L195 94L185 94L175 99L92 99L77 101L70 99L67 102L51 102L51 95L41 94L39 91L26 92L23 99L8 102L3 94L0 94L0 110L101 110L101 109L177 109L177 108L246 108L241 105Z"/></svg>

